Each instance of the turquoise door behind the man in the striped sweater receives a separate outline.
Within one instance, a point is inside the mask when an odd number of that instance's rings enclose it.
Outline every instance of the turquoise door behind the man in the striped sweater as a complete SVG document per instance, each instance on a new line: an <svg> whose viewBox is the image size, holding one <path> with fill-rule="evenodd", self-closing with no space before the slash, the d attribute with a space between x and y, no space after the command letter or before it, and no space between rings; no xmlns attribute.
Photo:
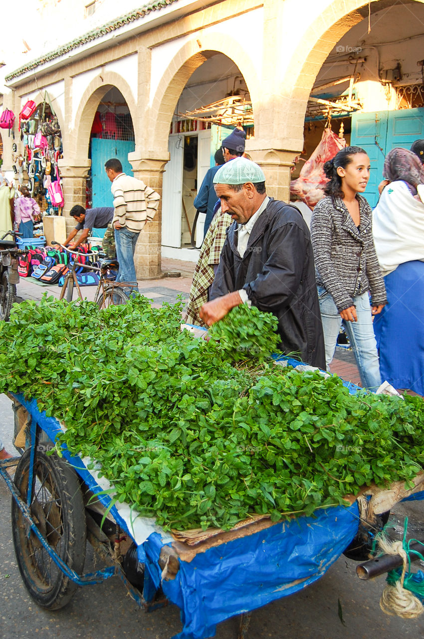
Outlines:
<svg viewBox="0 0 424 639"><path fill-rule="evenodd" d="M112 206L110 180L105 173L105 162L110 158L121 160L124 173L132 175L128 162L128 153L135 149L135 142L130 140L102 140L93 137L91 140L91 183L93 187L93 208L96 206Z"/></svg>

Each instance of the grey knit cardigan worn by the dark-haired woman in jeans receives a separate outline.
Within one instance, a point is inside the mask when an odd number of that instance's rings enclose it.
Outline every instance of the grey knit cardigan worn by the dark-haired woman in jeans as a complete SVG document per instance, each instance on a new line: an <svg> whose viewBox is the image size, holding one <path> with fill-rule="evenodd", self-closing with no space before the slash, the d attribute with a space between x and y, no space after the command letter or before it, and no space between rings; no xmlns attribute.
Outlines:
<svg viewBox="0 0 424 639"><path fill-rule="evenodd" d="M372 304L386 304L386 288L372 239L372 210L365 197L356 227L340 197L324 197L311 221L315 275L333 298L337 310L353 305L353 298L370 291Z"/></svg>

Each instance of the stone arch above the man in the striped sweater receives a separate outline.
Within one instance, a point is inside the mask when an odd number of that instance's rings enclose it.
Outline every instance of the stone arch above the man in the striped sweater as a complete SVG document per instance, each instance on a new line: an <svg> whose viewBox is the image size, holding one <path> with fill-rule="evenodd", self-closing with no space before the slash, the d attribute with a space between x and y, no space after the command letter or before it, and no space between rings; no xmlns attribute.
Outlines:
<svg viewBox="0 0 424 639"><path fill-rule="evenodd" d="M75 113L74 134L72 136L72 144L70 144L69 148L69 154L75 158L75 160L84 160L87 162L91 125L93 124L96 109L103 96L112 88L118 89L125 98L126 104L128 104L137 143L137 120L135 118L137 104L135 103L128 82L126 82L119 73L112 71L102 72L99 70L98 75L89 83L82 94L77 112Z"/></svg>

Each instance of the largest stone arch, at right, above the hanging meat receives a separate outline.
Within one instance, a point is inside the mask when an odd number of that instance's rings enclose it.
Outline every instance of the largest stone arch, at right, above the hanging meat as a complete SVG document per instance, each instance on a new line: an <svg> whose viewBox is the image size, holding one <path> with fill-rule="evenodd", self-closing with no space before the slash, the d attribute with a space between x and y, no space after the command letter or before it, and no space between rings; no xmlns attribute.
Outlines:
<svg viewBox="0 0 424 639"><path fill-rule="evenodd" d="M413 0L424 3L424 0ZM296 4L296 3L293 3ZM278 125L285 148L298 152L303 148L303 123L308 98L315 79L329 52L352 27L382 8L396 4L396 0L332 0L322 10L317 19L310 22L299 37L298 47L292 49L292 56L285 65L285 73L280 79L278 95L285 98L285 109ZM292 7L295 10L295 7ZM310 46L305 47L305 43Z"/></svg>

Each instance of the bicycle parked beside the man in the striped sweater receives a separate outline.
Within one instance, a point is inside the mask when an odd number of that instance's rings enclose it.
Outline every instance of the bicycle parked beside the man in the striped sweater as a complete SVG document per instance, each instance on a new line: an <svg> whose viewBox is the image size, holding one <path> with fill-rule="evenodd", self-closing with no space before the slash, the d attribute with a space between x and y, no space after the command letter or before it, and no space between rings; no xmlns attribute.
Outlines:
<svg viewBox="0 0 424 639"><path fill-rule="evenodd" d="M66 302L72 302L74 286L77 288L79 299L84 299L81 293L76 273L76 269L79 268L79 266L82 266L82 264L77 259L77 256L81 254L78 252L78 250L68 249L66 246L59 242L52 242L52 244L62 247L62 249L66 250L66 252L68 252L70 255L75 256L75 258L73 259L72 267L64 276L64 282L59 300L63 300L63 298L66 296ZM84 256L98 257L98 253L84 253ZM119 268L119 264L117 263L116 259L102 259L102 261L100 262L100 267L93 266L91 264L84 264L83 266L84 269L100 273L100 279L97 285L94 299L99 309L105 309L110 305L126 304L126 302L128 302L128 296L125 293L125 289L138 286L137 282L115 282L114 280L110 280L106 277L107 272L110 268Z"/></svg>

